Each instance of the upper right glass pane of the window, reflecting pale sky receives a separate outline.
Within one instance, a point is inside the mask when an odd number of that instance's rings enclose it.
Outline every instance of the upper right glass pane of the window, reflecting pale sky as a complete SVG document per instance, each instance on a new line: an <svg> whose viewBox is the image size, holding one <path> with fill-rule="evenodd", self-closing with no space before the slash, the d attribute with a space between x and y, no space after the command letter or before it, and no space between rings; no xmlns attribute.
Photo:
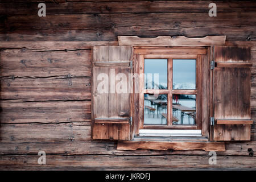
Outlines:
<svg viewBox="0 0 256 182"><path fill-rule="evenodd" d="M195 59L174 59L173 89L196 89L196 60Z"/></svg>

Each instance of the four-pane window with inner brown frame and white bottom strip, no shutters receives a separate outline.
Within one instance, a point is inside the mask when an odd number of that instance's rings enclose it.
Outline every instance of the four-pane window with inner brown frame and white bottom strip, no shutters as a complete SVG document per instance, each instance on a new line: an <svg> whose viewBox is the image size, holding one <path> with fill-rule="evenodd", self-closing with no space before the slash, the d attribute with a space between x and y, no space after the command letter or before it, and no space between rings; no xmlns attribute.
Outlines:
<svg viewBox="0 0 256 182"><path fill-rule="evenodd" d="M162 48L155 48L154 51L150 49L151 54L144 54L147 48L140 49L135 51L138 54L139 51L143 52L143 55L139 56L140 59L135 61L141 66L139 75L144 73L144 79L139 82L143 93L139 98L139 115L143 117L139 121L138 135L143 133L143 136L146 136L145 132L148 131L150 136L152 130L160 135L160 130L170 129L170 136L175 130L183 130L180 136L184 137L191 133L191 130L198 130L195 136L201 136L201 112L198 108L201 105L199 74L202 52L195 54L194 51L193 55L187 55L187 52L181 54L183 48L165 48L165 53L173 53L158 55L158 50Z"/></svg>

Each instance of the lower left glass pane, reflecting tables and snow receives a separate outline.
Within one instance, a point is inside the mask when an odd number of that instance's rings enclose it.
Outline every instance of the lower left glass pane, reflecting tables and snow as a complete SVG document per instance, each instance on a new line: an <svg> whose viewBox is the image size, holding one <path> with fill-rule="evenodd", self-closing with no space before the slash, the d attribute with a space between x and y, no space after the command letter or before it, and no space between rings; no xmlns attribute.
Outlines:
<svg viewBox="0 0 256 182"><path fill-rule="evenodd" d="M167 94L144 94L144 124L167 125Z"/></svg>

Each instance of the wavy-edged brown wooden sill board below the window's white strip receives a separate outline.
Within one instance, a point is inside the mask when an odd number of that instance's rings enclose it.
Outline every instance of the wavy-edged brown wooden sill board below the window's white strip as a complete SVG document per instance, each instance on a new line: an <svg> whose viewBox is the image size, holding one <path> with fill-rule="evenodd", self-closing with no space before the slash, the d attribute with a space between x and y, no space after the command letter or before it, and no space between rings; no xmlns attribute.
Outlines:
<svg viewBox="0 0 256 182"><path fill-rule="evenodd" d="M134 140L118 140L117 150L137 149L225 151L225 142L209 142L204 137L134 137Z"/></svg>

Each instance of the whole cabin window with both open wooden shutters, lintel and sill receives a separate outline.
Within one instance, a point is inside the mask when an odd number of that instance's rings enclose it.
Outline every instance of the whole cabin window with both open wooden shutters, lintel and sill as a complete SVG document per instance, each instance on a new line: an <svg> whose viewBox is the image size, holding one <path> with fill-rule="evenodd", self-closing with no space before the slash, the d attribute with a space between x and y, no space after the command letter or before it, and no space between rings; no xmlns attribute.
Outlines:
<svg viewBox="0 0 256 182"><path fill-rule="evenodd" d="M133 37L130 43L159 44L155 38L145 39L150 40ZM184 45L188 39L193 47L93 47L93 139L131 140L118 142L122 150L162 150L166 146L187 150L184 146L188 145L206 151L225 150L223 143L213 141L250 140L250 48L212 46L205 38L179 39L175 38L175 45ZM110 84L104 93L97 89L102 74ZM129 92L113 92L112 84L121 90L129 88ZM134 92L136 88L138 92ZM174 138L148 136L174 136L180 143L170 143Z"/></svg>

